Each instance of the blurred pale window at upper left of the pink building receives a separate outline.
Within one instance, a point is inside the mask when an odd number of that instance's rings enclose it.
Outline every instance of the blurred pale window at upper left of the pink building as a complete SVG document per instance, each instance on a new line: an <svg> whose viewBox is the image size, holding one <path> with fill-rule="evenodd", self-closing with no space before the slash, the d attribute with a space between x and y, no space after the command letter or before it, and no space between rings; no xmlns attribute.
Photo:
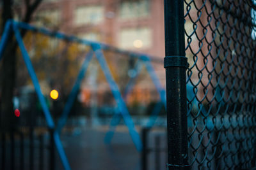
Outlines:
<svg viewBox="0 0 256 170"><path fill-rule="evenodd" d="M76 8L74 22L76 25L99 24L103 18L102 6L80 6Z"/></svg>

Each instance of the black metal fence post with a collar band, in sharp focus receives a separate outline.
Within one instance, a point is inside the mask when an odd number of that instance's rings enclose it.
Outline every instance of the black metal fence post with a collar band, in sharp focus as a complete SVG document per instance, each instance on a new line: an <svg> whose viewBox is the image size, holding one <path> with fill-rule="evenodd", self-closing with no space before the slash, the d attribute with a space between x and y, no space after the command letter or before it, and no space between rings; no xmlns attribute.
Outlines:
<svg viewBox="0 0 256 170"><path fill-rule="evenodd" d="M167 169L189 169L184 1L164 0L166 102L168 132Z"/></svg>

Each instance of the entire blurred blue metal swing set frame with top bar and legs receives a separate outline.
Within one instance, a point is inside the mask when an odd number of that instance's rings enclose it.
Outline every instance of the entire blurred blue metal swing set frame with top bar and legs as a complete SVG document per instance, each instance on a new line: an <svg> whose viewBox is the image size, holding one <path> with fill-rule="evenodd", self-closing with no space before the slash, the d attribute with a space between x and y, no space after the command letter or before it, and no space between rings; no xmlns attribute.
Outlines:
<svg viewBox="0 0 256 170"><path fill-rule="evenodd" d="M101 50L113 50L114 52L127 54L127 55L129 55L129 57L138 58L140 62L142 61L143 64L145 64L147 71L150 74L152 81L154 82L154 85L156 86L156 89L157 89L157 92L159 93L161 101L164 101L163 96L164 96L165 92L164 92L163 88L161 87L161 84L159 82L157 82L159 80L156 76L156 73L154 73L154 68L152 67L152 65L150 63L150 60L156 60L157 62L159 62L160 61L159 59L156 59L154 57L149 58L147 55L143 55L141 53L133 53L133 52L129 52L126 50L120 50L118 48L115 48L115 47L109 46L109 45L105 45L103 43L87 41L85 39L79 39L76 36L67 36L66 34L63 34L61 32L52 32L52 31L49 31L48 29L34 27L33 25L29 25L29 24L26 24L23 22L15 22L13 20L9 20L4 29L4 33L3 33L3 36L1 38L1 43L0 43L0 59L2 56L1 54L3 53L3 50L4 50L4 45L6 45L6 40L8 39L8 35L10 34L10 31L12 31L12 29L10 29L12 25L15 25L15 34L18 35L16 37L18 37L17 40L19 41L19 45L21 46L20 49L22 51L22 56L24 57L24 60L27 60L26 66L28 67L29 74L31 75L31 79L33 80L33 83L35 85L35 89L37 89L36 93L38 94L38 98L40 99L40 103L42 104L42 108L43 108L44 114L45 114L45 119L47 120L47 124L49 127L54 128L54 123L51 118L51 113L49 112L49 109L47 108L47 105L45 104L44 97L42 97L42 92L40 91L40 86L39 86L38 80L36 78L35 71L33 70L33 66L31 65L31 61L28 57L28 53L26 52L26 48L23 44L22 38L20 37L20 39L19 39L19 29L26 29L28 31L39 32L41 34L45 34L47 36L55 37L58 39L63 39L63 40L67 40L67 41L80 43L83 45L92 46L93 52L97 53L96 57L99 60L100 66L102 67L102 69L104 71L104 74L107 78L109 86L111 87L111 90L113 92L113 96L115 97L116 103L117 103L117 110L116 110L116 114L115 114L115 117L117 119L115 121L111 121L112 122L111 125L114 125L114 126L118 125L120 122L120 118L123 117L125 124L127 125L129 132L131 134L132 140L134 141L134 145L136 145L136 148L138 150L141 150L142 145L141 145L140 136L134 128L134 123L132 122L131 115L129 115L129 111L127 110L127 106L124 102L124 99L122 98L122 96L120 94L120 90L118 89L118 86L116 85L115 81L113 80L113 77L111 76L111 73L108 69L108 65L106 63L106 60L104 59L104 55ZM24 48L22 48L22 45L24 46ZM93 52L92 51L89 52L88 56L84 60L81 70L79 71L79 74L77 76L76 83L74 83L72 92L70 93L70 96L68 97L68 101L65 104L65 107L63 109L63 114L61 115L61 118L56 127L56 132L54 132L54 140L56 143L56 147L60 154L61 160L63 161L63 166L65 167L65 169L68 169L70 167L68 166L68 162L65 163L65 159L67 159L67 157L65 156L65 152L61 145L60 136L58 136L58 135L60 134L62 127L67 122L68 114L70 112L70 109L72 108L72 104L74 103L74 98L76 97L76 94L79 90L81 80L83 79L84 74L86 73L88 64L93 57ZM30 62L31 66L29 66L29 62ZM138 69L136 76L138 76L138 73L140 72L141 64L138 63L138 66L140 68ZM132 78L132 79L133 80L127 86L127 90L125 91L125 96L127 96L127 94L129 94L129 92L131 91L133 83L134 83L134 81L136 81L136 77ZM38 85L38 87L36 87L36 85ZM155 106L155 108L159 108L159 106ZM154 124L154 123L150 123L150 122L154 122L152 120L156 119L156 115L158 114L158 112L159 111L156 111L156 109L153 110L151 120L148 122L148 124L151 124L151 125ZM122 117L121 117L121 115L122 115ZM62 148L62 151L61 151L61 148Z"/></svg>

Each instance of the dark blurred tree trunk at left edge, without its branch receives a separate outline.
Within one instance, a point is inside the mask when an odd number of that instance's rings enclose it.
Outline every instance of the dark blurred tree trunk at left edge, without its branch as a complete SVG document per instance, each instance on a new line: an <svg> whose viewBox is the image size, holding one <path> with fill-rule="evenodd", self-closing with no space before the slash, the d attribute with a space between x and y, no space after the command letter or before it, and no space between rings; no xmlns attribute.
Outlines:
<svg viewBox="0 0 256 170"><path fill-rule="evenodd" d="M2 30L8 19L12 18L12 1L3 1L3 23ZM1 32L3 33L3 32ZM13 43L13 33L10 34L7 41L2 62L1 69L1 129L10 130L14 123L13 113L13 87L15 81L15 43Z"/></svg>

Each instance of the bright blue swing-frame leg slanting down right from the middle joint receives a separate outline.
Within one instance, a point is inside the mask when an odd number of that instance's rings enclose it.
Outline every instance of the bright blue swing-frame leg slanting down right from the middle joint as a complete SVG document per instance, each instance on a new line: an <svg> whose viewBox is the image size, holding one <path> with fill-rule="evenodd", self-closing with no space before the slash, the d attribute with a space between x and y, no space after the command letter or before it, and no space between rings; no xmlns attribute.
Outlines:
<svg viewBox="0 0 256 170"><path fill-rule="evenodd" d="M140 139L140 135L136 131L134 127L134 123L132 122L131 115L129 114L129 111L127 109L127 106L124 102L124 99L122 98L121 92L118 89L118 86L116 85L115 81L113 80L113 76L111 75L108 64L106 60L104 59L104 55L102 53L102 49L100 48L99 44L93 44L92 49L95 52L95 56L97 57L97 60L99 61L100 67L103 70L103 73L106 76L106 79L108 81L109 87L112 91L112 94L115 98L116 104L118 106L118 110L122 114L122 117L124 118L125 125L129 129L129 134L131 135L132 141L134 142L134 145L136 146L136 149L138 151L142 150L142 142Z"/></svg>

